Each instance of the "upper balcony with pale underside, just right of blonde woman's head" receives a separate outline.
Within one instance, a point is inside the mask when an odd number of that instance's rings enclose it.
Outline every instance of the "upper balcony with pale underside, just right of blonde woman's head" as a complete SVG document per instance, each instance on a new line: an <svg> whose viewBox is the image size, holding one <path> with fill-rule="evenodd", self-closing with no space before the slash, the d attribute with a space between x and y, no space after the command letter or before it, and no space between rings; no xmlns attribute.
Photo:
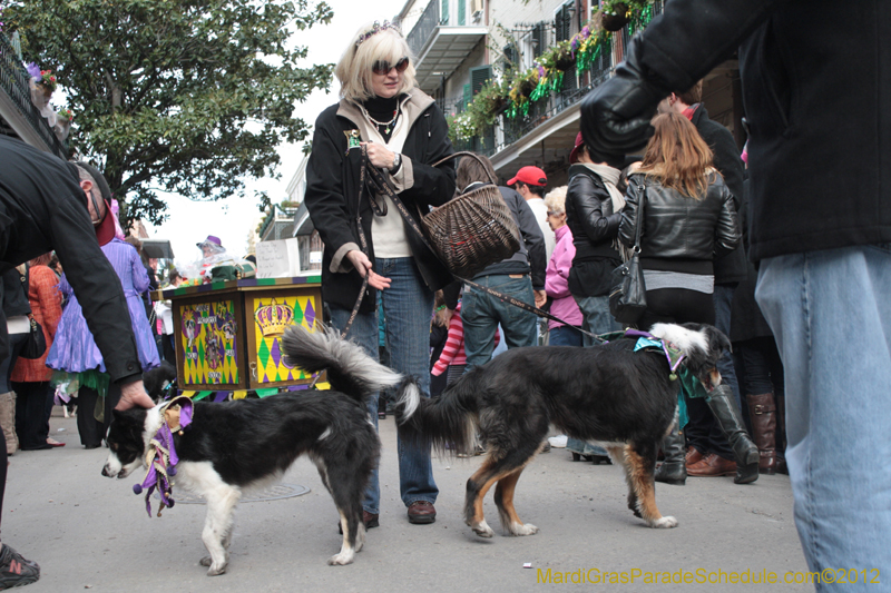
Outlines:
<svg viewBox="0 0 891 593"><path fill-rule="evenodd" d="M457 16L440 13L439 0L430 0L405 40L415 57L418 86L425 92L439 87L488 33L486 27L459 24Z"/></svg>

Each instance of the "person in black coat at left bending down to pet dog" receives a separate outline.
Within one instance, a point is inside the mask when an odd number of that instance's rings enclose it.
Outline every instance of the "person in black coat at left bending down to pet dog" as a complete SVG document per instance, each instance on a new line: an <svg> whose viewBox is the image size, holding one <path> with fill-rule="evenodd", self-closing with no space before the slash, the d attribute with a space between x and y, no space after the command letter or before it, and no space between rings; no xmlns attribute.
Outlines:
<svg viewBox="0 0 891 593"><path fill-rule="evenodd" d="M130 315L117 274L99 249L115 235L111 191L86 164L67 164L20 140L0 136L0 274L56 250L82 307L90 332L120 385L119 409L153 407L145 392ZM97 243L97 238L99 243ZM21 291L21 286L17 289ZM6 316L0 317L0 359L10 354ZM6 441L0 439L0 505L6 490ZM12 570L13 563L20 567ZM3 544L3 586L37 581L40 567Z"/></svg>

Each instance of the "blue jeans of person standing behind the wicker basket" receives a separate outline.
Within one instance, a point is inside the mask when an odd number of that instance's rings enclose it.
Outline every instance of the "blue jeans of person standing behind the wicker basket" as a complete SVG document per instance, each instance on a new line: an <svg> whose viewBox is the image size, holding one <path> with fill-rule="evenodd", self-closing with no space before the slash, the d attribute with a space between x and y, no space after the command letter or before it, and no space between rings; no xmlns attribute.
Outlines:
<svg viewBox="0 0 891 593"><path fill-rule="evenodd" d="M511 278L505 274L491 274L473 281L529 305L536 303L532 280L528 275ZM538 340L537 319L535 314L502 303L478 288L464 286L464 295L461 298L461 322L464 325L466 372L474 366L484 365L492 358L495 330L499 323L508 348L535 346Z"/></svg>

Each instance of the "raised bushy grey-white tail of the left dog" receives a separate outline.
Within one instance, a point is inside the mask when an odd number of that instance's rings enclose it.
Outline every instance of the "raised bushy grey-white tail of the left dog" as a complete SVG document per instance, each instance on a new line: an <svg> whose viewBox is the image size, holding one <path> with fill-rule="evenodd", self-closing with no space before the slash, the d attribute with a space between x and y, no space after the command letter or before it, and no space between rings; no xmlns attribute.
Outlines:
<svg viewBox="0 0 891 593"><path fill-rule="evenodd" d="M316 324L315 332L292 325L285 329L282 343L288 364L307 373L327 370L327 382L334 389L359 401L402 380L402 375L376 363L361 346L341 339L336 329L322 324Z"/></svg>

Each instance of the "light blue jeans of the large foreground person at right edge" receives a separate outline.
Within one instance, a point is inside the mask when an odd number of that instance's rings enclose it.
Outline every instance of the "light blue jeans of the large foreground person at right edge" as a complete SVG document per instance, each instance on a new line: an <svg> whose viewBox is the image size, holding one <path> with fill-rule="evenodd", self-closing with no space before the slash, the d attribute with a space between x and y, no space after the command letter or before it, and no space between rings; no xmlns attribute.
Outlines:
<svg viewBox="0 0 891 593"><path fill-rule="evenodd" d="M786 461L811 571L891 571L889 295L888 244L761 264L755 297L783 359ZM844 591L873 590L862 583Z"/></svg>

